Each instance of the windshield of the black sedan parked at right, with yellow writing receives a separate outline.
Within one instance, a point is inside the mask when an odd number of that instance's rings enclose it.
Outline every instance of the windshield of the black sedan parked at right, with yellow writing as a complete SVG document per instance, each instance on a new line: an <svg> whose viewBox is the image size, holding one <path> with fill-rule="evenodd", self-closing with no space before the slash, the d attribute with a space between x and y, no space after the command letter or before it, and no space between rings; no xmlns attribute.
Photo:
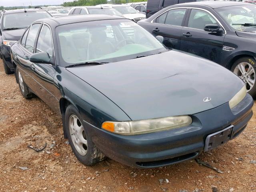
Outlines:
<svg viewBox="0 0 256 192"><path fill-rule="evenodd" d="M256 24L256 6L239 5L215 9L234 31L251 32L256 31L253 26L242 26L238 24Z"/></svg>

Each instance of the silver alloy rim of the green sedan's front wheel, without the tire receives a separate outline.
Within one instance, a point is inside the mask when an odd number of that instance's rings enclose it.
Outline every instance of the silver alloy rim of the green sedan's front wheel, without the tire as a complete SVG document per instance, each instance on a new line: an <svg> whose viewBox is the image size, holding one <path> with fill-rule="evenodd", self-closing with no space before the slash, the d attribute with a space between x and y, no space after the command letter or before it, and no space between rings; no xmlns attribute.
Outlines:
<svg viewBox="0 0 256 192"><path fill-rule="evenodd" d="M75 115L71 115L69 118L69 131L76 150L80 155L85 156L87 153L86 135L84 127Z"/></svg>

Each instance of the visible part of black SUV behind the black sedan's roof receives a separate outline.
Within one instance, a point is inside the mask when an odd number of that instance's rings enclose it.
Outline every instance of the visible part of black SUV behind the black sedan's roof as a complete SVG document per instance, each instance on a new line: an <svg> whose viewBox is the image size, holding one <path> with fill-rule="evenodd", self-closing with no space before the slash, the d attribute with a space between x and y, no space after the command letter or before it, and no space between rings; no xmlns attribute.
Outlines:
<svg viewBox="0 0 256 192"><path fill-rule="evenodd" d="M201 0L148 0L146 18L149 18L159 10L166 8L168 6L195 1Z"/></svg>

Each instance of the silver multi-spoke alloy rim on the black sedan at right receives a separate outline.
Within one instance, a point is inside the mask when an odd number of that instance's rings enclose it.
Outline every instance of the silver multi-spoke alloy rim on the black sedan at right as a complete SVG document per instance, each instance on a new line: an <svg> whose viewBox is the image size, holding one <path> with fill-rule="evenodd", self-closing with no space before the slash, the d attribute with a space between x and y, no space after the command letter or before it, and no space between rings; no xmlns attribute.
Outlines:
<svg viewBox="0 0 256 192"><path fill-rule="evenodd" d="M250 63L239 63L234 69L234 74L244 81L247 92L252 89L255 83L255 71Z"/></svg>

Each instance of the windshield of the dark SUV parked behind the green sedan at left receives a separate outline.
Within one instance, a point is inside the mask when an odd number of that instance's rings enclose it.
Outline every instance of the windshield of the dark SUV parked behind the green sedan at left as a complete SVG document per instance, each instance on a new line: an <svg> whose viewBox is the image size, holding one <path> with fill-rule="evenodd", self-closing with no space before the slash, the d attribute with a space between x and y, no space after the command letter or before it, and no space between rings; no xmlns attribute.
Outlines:
<svg viewBox="0 0 256 192"><path fill-rule="evenodd" d="M27 28L32 22L48 17L52 16L46 11L4 14L2 29Z"/></svg>

